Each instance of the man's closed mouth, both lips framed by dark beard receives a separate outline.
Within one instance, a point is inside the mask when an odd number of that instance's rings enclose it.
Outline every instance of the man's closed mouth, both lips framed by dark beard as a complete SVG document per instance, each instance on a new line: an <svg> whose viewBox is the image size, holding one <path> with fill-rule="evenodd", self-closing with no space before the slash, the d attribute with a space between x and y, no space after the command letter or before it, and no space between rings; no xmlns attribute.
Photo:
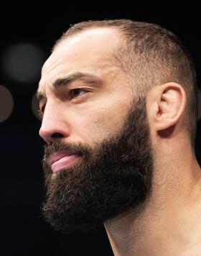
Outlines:
<svg viewBox="0 0 201 256"><path fill-rule="evenodd" d="M58 173L60 170L72 166L79 158L73 151L62 150L47 157L47 164L51 166L53 173Z"/></svg>

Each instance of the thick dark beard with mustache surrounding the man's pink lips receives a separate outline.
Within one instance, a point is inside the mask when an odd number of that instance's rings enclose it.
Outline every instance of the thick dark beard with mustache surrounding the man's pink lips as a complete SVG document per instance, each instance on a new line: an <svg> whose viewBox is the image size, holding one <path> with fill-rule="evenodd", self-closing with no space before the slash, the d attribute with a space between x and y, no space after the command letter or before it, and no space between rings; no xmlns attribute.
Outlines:
<svg viewBox="0 0 201 256"><path fill-rule="evenodd" d="M75 150L80 161L52 178L46 159L58 150ZM55 140L43 160L47 199L45 219L69 233L95 228L146 201L151 191L152 152L145 100L136 102L123 127L95 149Z"/></svg>

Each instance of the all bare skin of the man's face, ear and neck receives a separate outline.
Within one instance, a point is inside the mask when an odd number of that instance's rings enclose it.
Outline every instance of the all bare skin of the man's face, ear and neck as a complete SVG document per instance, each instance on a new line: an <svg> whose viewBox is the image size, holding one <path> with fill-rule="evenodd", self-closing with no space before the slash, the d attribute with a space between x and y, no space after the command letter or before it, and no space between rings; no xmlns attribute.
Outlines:
<svg viewBox="0 0 201 256"><path fill-rule="evenodd" d="M111 57L118 43L115 29L89 29L52 52L38 89L39 134L47 143L60 137L93 147L121 127L134 93ZM73 79L58 86L63 78ZM184 127L186 95L182 86L166 83L151 88L146 101L154 150L151 196L141 208L106 221L111 247L126 256L201 255L201 172Z"/></svg>

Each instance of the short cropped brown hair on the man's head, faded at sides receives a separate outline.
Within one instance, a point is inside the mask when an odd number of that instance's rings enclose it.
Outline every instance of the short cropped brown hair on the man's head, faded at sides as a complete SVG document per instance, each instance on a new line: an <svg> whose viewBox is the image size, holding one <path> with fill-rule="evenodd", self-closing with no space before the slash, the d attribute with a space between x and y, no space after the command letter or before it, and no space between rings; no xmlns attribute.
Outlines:
<svg viewBox="0 0 201 256"><path fill-rule="evenodd" d="M168 29L130 19L88 21L74 24L55 43L87 29L113 28L120 32L120 46L114 52L117 65L131 78L139 96L163 83L179 83L187 94L184 123L195 145L197 125L197 79L190 52ZM54 47L54 48L55 48ZM54 50L53 48L53 50Z"/></svg>

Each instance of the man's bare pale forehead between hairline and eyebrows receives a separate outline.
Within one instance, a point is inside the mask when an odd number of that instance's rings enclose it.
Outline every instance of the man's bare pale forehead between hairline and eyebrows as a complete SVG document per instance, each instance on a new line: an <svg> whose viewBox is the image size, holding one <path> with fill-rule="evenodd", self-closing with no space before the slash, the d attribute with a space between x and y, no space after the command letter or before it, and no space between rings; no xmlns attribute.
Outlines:
<svg viewBox="0 0 201 256"><path fill-rule="evenodd" d="M80 32L60 42L42 68L39 90L70 73L102 75L116 69L113 53L119 45L115 29L95 28Z"/></svg>

